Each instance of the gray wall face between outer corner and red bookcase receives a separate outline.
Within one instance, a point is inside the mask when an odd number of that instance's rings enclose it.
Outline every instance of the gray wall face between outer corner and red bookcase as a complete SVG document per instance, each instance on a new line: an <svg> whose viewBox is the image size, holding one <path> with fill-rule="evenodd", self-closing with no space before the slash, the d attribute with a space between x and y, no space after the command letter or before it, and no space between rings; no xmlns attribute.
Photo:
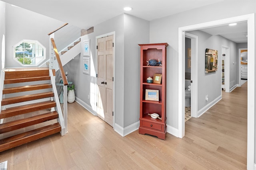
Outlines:
<svg viewBox="0 0 256 170"><path fill-rule="evenodd" d="M140 46L149 43L149 21L124 15L124 127L140 117Z"/></svg>

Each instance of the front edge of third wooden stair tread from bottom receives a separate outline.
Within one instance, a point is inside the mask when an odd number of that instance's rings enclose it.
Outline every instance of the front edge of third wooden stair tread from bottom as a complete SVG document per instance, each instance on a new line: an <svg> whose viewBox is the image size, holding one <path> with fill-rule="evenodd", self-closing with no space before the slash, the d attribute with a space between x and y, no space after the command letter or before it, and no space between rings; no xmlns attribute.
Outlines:
<svg viewBox="0 0 256 170"><path fill-rule="evenodd" d="M37 106L37 107L32 107L32 108L29 108L29 109L19 109L19 110L15 110L15 111L12 111L12 112L7 112L7 113L0 113L0 119L3 119L3 118L6 118L6 117L12 117L12 116L16 116L16 115L21 115L21 114L25 114L25 113L30 113L30 112L33 112L33 111L38 111L38 110L43 110L43 109L49 109L51 107L55 107L56 106L56 103L52 103L52 104L45 104L45 105L42 105L42 106ZM8 111L8 109L7 109Z"/></svg>

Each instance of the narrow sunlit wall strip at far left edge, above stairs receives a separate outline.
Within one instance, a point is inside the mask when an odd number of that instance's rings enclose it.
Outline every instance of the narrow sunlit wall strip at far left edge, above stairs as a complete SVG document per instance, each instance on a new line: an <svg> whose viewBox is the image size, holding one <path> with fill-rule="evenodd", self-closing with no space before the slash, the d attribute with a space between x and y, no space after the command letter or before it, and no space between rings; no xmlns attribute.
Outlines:
<svg viewBox="0 0 256 170"><path fill-rule="evenodd" d="M4 66L2 67L2 59L5 59L5 56L2 56L2 39L3 36L5 36L5 8L6 8L6 3L0 1L0 70L2 70L4 68ZM5 37L6 38L6 37ZM3 62L4 63L4 62Z"/></svg>

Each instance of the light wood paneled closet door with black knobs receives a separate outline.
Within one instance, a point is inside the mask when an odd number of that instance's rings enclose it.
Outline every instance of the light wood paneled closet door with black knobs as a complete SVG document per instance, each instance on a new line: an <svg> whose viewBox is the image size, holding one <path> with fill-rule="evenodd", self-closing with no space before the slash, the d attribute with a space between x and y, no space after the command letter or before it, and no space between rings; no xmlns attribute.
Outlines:
<svg viewBox="0 0 256 170"><path fill-rule="evenodd" d="M113 126L113 37L111 35L97 40L97 115L111 126Z"/></svg>

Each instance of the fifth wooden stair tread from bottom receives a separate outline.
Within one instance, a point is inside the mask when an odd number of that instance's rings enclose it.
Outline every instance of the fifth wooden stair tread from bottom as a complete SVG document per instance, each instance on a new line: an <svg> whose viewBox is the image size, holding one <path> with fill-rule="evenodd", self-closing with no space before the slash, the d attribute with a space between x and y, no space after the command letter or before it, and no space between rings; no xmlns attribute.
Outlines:
<svg viewBox="0 0 256 170"><path fill-rule="evenodd" d="M36 85L29 85L29 86L19 86L19 87L11 87L11 88L4 88L3 94L10 94L10 93L16 93L16 92L26 92L31 90L40 90L40 89L46 89L46 88L52 88L52 84L36 84Z"/></svg>

